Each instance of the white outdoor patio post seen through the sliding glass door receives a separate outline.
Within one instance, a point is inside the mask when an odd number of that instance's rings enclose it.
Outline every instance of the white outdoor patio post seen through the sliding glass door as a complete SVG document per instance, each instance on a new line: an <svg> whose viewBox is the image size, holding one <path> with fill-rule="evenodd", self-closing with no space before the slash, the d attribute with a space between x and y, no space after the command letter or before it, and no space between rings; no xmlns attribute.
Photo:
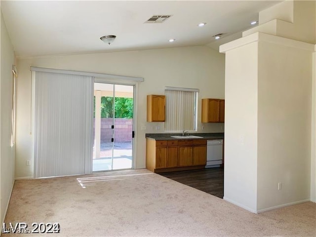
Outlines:
<svg viewBox="0 0 316 237"><path fill-rule="evenodd" d="M101 90L95 91L94 147L95 158L100 158L101 143Z"/></svg>

